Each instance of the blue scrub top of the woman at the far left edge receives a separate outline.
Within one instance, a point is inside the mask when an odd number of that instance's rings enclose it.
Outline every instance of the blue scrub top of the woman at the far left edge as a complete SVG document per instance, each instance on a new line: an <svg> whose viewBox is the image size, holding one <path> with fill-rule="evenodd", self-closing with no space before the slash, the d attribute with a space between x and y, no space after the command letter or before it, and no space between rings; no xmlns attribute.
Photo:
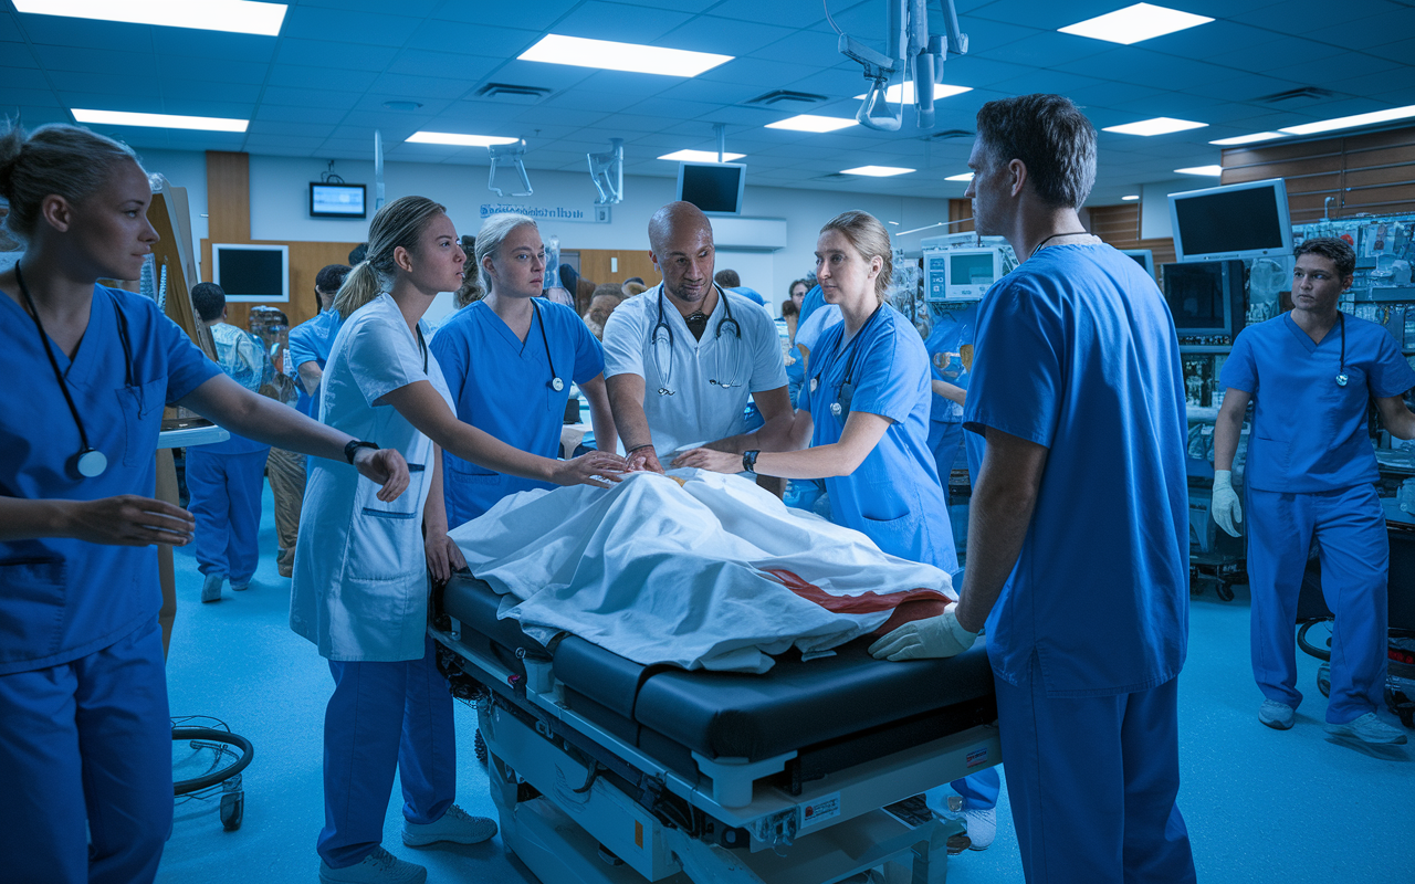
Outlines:
<svg viewBox="0 0 1415 884"><path fill-rule="evenodd" d="M127 385L122 321L133 354ZM163 406L221 369L144 297L93 287L88 330L72 364L51 342L89 444L108 470L79 478L68 465L82 444L34 320L0 297L0 495L93 501L153 496ZM0 542L0 675L75 661L157 617L163 604L156 546L100 546L65 537Z"/></svg>

